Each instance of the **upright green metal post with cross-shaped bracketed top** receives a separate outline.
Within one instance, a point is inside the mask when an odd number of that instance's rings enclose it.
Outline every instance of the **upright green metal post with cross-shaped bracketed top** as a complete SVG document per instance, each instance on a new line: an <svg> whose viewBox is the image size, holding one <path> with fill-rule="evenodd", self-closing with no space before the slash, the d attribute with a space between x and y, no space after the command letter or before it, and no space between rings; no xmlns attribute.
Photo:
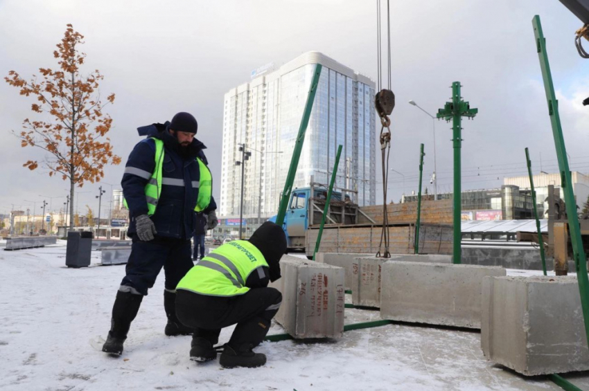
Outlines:
<svg viewBox="0 0 589 391"><path fill-rule="evenodd" d="M461 263L462 251L460 243L461 231L461 167L460 149L462 147L462 117L473 118L477 115L478 109L471 109L468 102L464 102L460 96L460 82L452 83L452 102L446 102L443 109L439 109L437 118L447 121L452 120L452 143L454 147L454 251L452 262Z"/></svg>

